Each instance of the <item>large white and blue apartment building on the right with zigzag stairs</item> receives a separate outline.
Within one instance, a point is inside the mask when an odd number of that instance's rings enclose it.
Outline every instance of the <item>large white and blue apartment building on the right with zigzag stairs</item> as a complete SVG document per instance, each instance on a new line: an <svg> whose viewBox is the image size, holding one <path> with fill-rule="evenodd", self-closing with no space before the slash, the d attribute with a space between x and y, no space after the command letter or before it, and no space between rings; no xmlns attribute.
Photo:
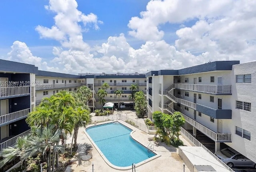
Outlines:
<svg viewBox="0 0 256 172"><path fill-rule="evenodd" d="M146 73L148 114L180 111L183 128L224 143L256 162L256 62L216 61Z"/></svg>

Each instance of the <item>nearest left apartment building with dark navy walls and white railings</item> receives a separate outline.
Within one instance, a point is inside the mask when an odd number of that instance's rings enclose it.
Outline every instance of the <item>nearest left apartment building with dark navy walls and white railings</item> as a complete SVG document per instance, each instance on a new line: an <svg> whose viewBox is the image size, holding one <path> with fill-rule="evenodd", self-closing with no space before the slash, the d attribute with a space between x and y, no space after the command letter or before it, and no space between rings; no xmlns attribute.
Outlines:
<svg viewBox="0 0 256 172"><path fill-rule="evenodd" d="M0 59L0 151L27 135L26 116L35 103L34 65Z"/></svg>

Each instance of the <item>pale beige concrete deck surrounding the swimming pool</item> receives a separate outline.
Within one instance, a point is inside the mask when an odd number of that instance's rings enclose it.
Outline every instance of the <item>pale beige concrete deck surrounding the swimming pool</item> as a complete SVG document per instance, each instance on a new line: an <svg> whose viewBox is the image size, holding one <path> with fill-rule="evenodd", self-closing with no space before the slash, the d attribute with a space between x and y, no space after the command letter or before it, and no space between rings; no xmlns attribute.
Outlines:
<svg viewBox="0 0 256 172"><path fill-rule="evenodd" d="M118 112L120 113L120 111ZM133 117L136 119L134 112L132 111L121 111L122 114L129 114L129 117ZM93 115L93 114L92 114ZM140 119L143 120L143 119ZM134 130L132 137L140 142L145 147L148 146L150 141L148 138L154 137L154 135L149 135L140 129L129 125L128 123L119 120L120 123L128 126L130 129ZM89 127L88 125L87 127ZM95 149L92 145L86 134L84 133L84 128L80 128L78 131L78 150L77 154L74 156L72 161L75 164L68 166L65 172L92 172L92 163L94 163L94 172L132 172L132 170L116 170L111 168L102 158L100 153ZM182 136L180 139L184 142L184 145L191 146ZM67 143L71 143L72 138L67 140ZM82 156L84 155L84 148L87 151L90 151L92 154L92 158L89 161L82 160ZM161 155L160 157L147 162L146 164L142 164L141 166L136 167L136 171L138 172L182 172L183 171L183 161L178 155L178 149L166 145L165 143L159 143L158 146L154 145L155 153ZM118 152L116 152L118 153ZM185 172L190 172L190 170L185 166Z"/></svg>

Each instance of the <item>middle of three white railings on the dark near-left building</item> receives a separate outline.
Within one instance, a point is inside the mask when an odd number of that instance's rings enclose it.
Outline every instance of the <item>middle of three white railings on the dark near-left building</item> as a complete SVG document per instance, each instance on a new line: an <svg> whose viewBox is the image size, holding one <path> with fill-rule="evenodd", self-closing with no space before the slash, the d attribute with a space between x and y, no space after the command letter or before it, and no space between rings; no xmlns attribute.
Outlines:
<svg viewBox="0 0 256 172"><path fill-rule="evenodd" d="M6 115L1 115L0 116L0 124L9 123L10 121L14 121L16 119L26 117L28 115L29 111L30 111L30 108L12 112L12 113L8 113Z"/></svg>

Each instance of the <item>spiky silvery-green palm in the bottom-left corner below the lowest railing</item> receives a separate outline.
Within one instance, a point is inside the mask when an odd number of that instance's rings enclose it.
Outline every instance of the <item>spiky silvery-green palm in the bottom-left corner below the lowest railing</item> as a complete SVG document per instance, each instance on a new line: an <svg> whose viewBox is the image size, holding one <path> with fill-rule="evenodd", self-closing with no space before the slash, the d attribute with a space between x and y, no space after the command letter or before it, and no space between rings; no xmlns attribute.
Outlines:
<svg viewBox="0 0 256 172"><path fill-rule="evenodd" d="M15 158L20 158L24 170L26 171L26 158L24 157L25 151L28 147L28 137L18 137L14 147L7 147L0 152L0 157L3 159L0 161L0 168L2 168L6 163L13 161Z"/></svg>

